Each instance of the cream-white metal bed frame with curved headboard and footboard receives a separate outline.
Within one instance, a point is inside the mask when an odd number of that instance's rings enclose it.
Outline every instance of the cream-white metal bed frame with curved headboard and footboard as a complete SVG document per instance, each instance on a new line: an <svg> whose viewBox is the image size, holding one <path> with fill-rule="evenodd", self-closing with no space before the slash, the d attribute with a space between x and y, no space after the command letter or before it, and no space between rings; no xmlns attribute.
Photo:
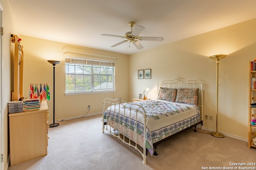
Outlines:
<svg viewBox="0 0 256 170"><path fill-rule="evenodd" d="M201 127L203 128L203 123L202 123L202 120L203 120L203 84L200 80L197 80L197 79L190 79L190 80L184 80L184 79L181 79L181 78L172 78L170 80L162 80L160 82L158 82L158 93L159 93L159 90L160 90L160 87L167 87L167 88L199 88L200 90L198 91L198 106L201 107L201 111L200 111L200 114L201 114L201 120L200 122L188 127L188 128L191 128L191 127L195 127L195 130L196 131L196 126L198 124L201 124ZM146 121L147 121L147 115L146 115L146 111L144 110L144 108L136 103L129 103L129 106L125 106L124 103L128 103L128 102L124 102L121 98L118 98L118 99L109 99L109 98L106 98L103 102L103 109L102 109L102 133L104 133L104 130L106 131L109 131L110 134L112 134L114 137L117 137L118 139L120 139L123 143L125 143L126 145L129 145L131 147L133 147L134 149L138 150L138 152L140 152L140 154L142 155L143 157L143 161L142 163L143 164L146 164L146 156L147 156L147 149L146 149ZM112 129L111 127L115 127L115 124L117 124L115 121L114 121L114 124L111 124L111 121L110 121L110 125L106 125L106 122L104 121L104 112L106 111L106 109L110 106L116 106L118 105L118 113L120 114L120 106L124 107L124 117L125 116L128 116L130 117L131 115L131 112L132 111L135 111L136 112L136 126L137 127L137 116L138 114L142 114L143 117L144 117L144 146L143 146L143 152L138 148L138 145L137 145L137 135L136 135L136 140L133 141L135 143L135 145L133 145L131 143L131 139L130 137L125 137L124 135L120 135L120 134L125 134L124 133L124 130L123 132L120 133L120 131L117 131L118 133L116 134L116 130L115 129ZM134 109L133 106L138 106L141 108L142 111L138 110L138 109ZM111 111L114 111L116 112L116 107L114 107L114 110L111 110L112 107L110 107L110 112ZM128 112L128 113L127 113ZM119 117L119 121L120 121L120 116ZM131 121L130 121L131 123ZM120 125L118 123L118 125ZM108 126L110 126L110 128L108 128ZM131 126L131 124L129 125ZM186 129L188 129L186 128ZM184 130L186 130L184 129ZM182 130L182 131L184 131ZM129 129L129 135L130 135L130 131L133 131L132 129ZM182 132L180 131L180 132ZM180 133L178 132L178 133ZM175 133L173 135L176 135L178 133ZM172 136L173 136L172 135ZM169 136L167 137L166 139L169 139L170 137L172 136ZM128 138L128 142L126 142L125 138ZM162 143L163 141L166 141L166 139L162 140L162 141L158 141L157 143L154 143L154 155L157 155L156 153L156 146L160 143Z"/></svg>

